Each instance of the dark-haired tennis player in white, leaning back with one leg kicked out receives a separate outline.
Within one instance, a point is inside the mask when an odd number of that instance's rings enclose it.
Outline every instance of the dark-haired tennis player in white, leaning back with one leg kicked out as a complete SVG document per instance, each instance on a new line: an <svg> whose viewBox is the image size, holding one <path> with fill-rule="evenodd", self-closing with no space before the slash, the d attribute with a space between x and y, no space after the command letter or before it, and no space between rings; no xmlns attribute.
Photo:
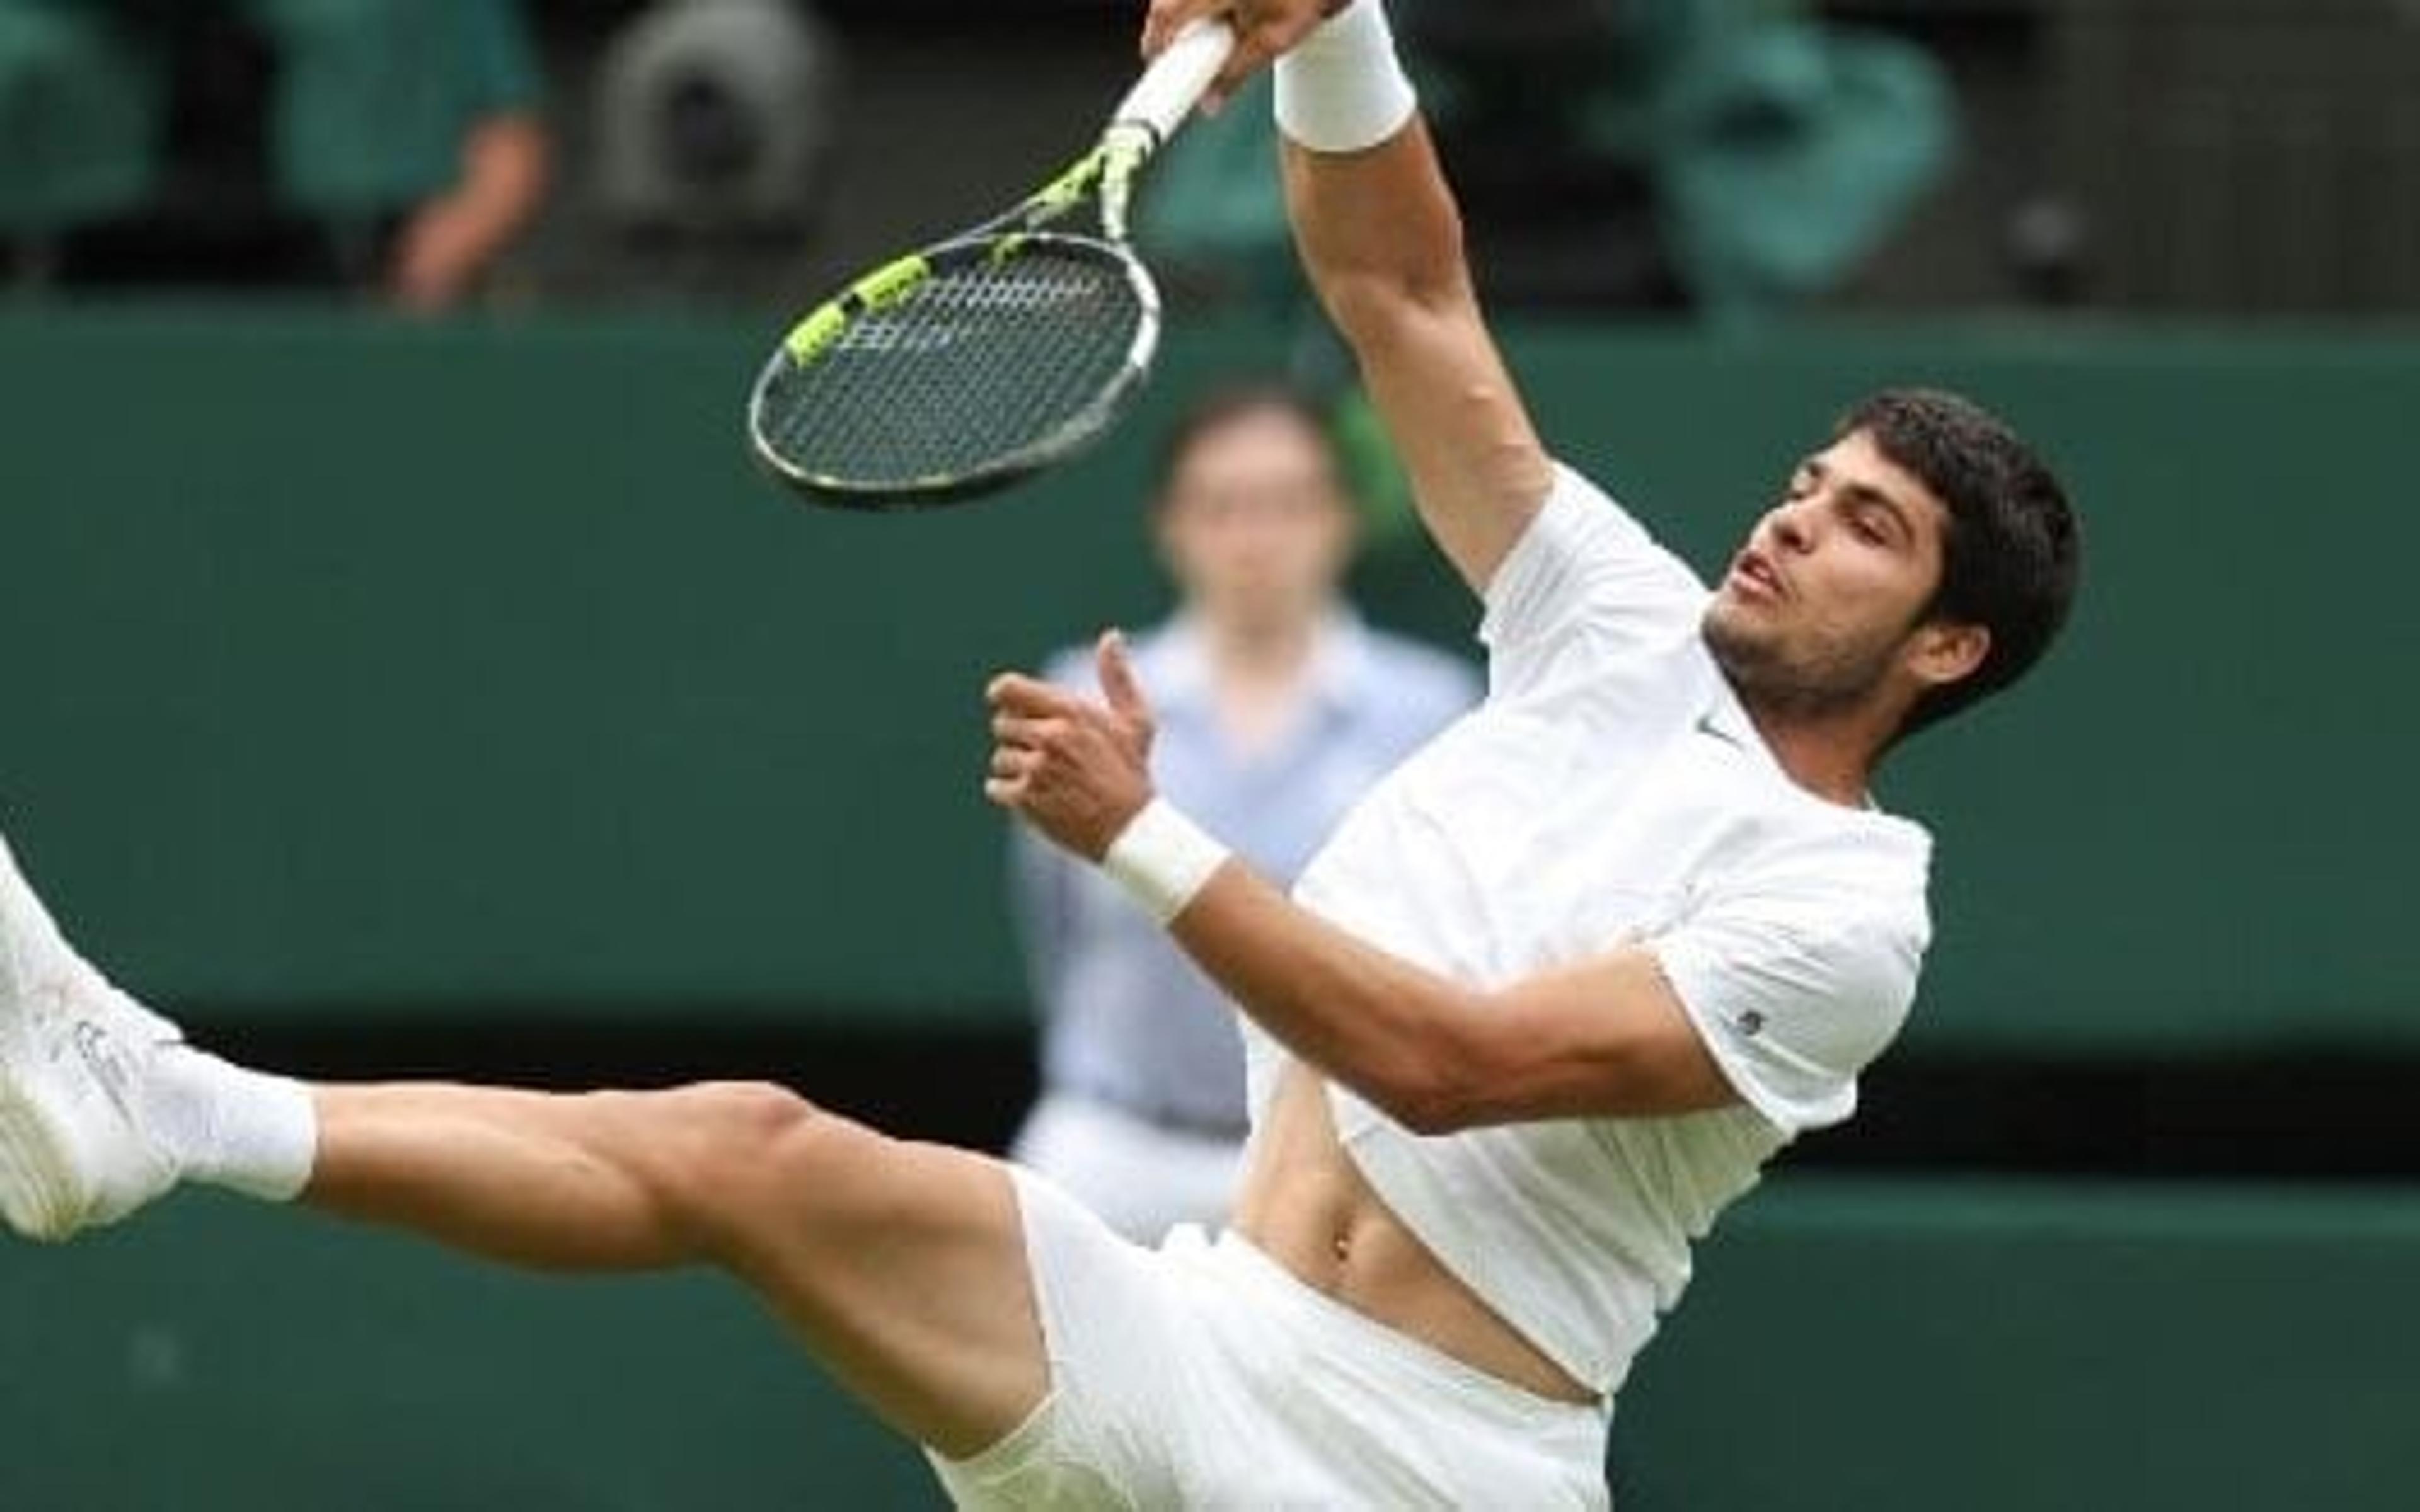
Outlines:
<svg viewBox="0 0 2420 1512"><path fill-rule="evenodd" d="M1159 46L1220 0L1157 0ZM1892 392L1788 469L1709 590L1534 438L1377 0L1239 0L1304 266L1440 549L1488 699L1287 898L1101 699L990 687L992 801L1094 859L1244 1009L1227 1231L1116 1239L999 1161L777 1086L302 1086L111 987L0 864L0 1214L63 1239L179 1181L552 1270L721 1265L970 1507L1602 1507L1689 1246L1846 1118L1914 994L1929 842L1871 779L2006 687L2076 576L2059 486ZM5 859L5 856L0 856Z"/></svg>

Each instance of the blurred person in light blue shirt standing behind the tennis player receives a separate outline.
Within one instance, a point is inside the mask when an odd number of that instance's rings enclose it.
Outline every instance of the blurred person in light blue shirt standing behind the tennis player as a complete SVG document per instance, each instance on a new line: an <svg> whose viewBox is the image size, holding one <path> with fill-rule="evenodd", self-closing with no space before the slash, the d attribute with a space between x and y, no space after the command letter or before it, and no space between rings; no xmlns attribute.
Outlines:
<svg viewBox="0 0 2420 1512"><path fill-rule="evenodd" d="M1278 883L1479 697L1467 663L1346 602L1355 535L1307 394L1239 385L1171 428L1152 537L1179 602L1133 644L1159 709L1152 774ZM1060 651L1045 677L1089 689L1091 646ZM1128 1239L1222 1222L1246 1132L1234 1006L1116 883L1031 827L1014 835L1014 885L1043 1096L1012 1159Z"/></svg>

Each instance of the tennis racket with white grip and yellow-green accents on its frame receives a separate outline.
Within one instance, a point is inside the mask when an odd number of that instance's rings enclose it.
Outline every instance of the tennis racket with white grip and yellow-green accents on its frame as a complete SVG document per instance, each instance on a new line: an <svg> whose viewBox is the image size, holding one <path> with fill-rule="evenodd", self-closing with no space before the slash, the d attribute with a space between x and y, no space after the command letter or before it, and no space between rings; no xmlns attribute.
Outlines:
<svg viewBox="0 0 2420 1512"><path fill-rule="evenodd" d="M1135 174L1232 48L1227 22L1195 22L1062 174L816 305L748 397L757 460L813 503L881 510L973 498L1096 440L1159 346L1125 230ZM1079 208L1099 235L1050 230Z"/></svg>

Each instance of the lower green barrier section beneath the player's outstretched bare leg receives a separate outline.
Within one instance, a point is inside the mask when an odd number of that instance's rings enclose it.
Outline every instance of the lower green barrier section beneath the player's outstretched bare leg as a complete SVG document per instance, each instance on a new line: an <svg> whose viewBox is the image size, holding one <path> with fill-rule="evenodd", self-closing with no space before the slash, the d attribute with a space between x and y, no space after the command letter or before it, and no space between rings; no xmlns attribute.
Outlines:
<svg viewBox="0 0 2420 1512"><path fill-rule="evenodd" d="M537 1280L179 1198L0 1241L12 1512L937 1507L736 1285Z"/></svg>

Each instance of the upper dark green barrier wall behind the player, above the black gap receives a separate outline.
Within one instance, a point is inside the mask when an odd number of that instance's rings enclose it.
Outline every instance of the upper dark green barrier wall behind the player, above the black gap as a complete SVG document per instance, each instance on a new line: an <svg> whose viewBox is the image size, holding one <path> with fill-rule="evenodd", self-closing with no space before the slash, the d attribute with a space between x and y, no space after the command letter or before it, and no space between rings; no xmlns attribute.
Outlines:
<svg viewBox="0 0 2420 1512"><path fill-rule="evenodd" d="M0 319L0 823L77 934L254 1016L1016 1014L980 685L1159 602L1157 411L990 508L811 513L741 457L762 336ZM1154 402L1280 346L1181 329ZM2420 344L1510 346L1704 566L1876 382L1972 387L2067 464L2069 646L1885 786L1943 842L1919 1038L2420 1038Z"/></svg>

